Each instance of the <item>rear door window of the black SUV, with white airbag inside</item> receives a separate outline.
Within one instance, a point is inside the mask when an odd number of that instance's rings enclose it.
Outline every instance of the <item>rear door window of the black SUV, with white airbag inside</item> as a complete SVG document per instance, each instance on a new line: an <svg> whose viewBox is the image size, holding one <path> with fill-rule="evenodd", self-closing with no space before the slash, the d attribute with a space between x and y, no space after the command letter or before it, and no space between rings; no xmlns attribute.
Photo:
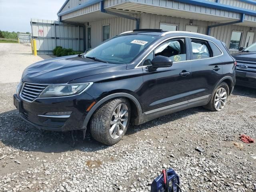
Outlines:
<svg viewBox="0 0 256 192"><path fill-rule="evenodd" d="M203 40L191 40L193 60L205 59L211 57L211 51L208 43Z"/></svg>

